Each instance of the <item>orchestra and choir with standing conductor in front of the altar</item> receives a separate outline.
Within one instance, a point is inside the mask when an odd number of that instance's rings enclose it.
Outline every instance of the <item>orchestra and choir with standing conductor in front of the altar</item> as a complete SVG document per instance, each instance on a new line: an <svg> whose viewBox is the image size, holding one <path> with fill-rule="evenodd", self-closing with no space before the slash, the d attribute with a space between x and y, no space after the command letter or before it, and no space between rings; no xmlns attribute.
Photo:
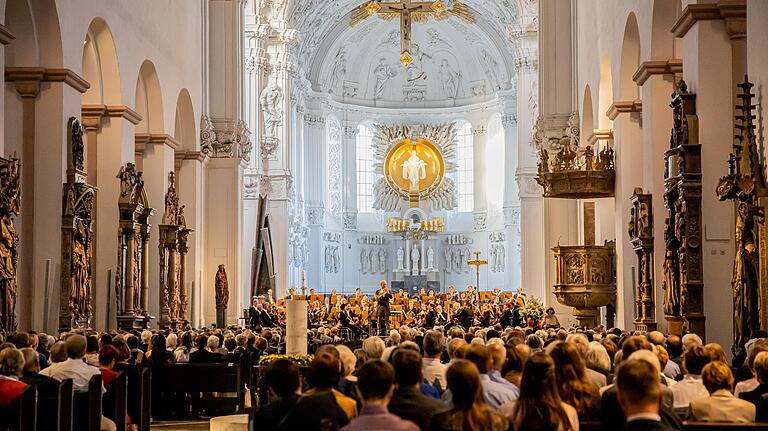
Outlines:
<svg viewBox="0 0 768 431"><path fill-rule="evenodd" d="M525 305L525 294L502 292L495 288L481 292L473 286L466 291L457 291L450 286L445 293L421 289L409 296L405 290L393 292L382 280L372 298L358 288L351 295L337 293L309 295L296 294L289 290L285 299L271 302L266 298L254 298L253 305L245 311L245 319L251 328L269 324L285 326L286 299L307 300L308 326L310 328L347 328L354 339L364 335L386 335L391 329L401 326L432 328L441 325L446 328L461 326L502 327L524 326L521 308Z"/></svg>

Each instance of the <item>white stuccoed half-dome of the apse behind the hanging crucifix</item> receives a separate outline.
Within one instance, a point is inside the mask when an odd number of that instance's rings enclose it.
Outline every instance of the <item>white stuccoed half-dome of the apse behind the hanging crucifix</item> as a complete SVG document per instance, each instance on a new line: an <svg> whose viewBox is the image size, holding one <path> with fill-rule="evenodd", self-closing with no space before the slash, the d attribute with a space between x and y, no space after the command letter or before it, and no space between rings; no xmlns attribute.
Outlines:
<svg viewBox="0 0 768 431"><path fill-rule="evenodd" d="M530 0L465 0L476 18L414 23L424 56L400 65L399 22L371 18L351 27L362 0L297 0L289 15L299 30L299 67L316 91L347 103L397 107L461 106L488 100L514 77L510 31ZM413 68L411 68L413 69Z"/></svg>

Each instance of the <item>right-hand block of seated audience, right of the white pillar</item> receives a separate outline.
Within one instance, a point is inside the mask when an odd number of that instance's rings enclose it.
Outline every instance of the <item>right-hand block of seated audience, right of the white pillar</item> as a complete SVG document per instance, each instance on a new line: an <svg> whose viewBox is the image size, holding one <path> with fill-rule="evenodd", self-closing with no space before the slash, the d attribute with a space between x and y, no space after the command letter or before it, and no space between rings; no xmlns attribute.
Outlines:
<svg viewBox="0 0 768 431"><path fill-rule="evenodd" d="M259 429L681 430L768 422L768 337L733 369L695 334L402 326L263 371ZM738 376L740 381L735 384ZM739 390L738 396L734 389ZM768 425L768 424L767 424Z"/></svg>

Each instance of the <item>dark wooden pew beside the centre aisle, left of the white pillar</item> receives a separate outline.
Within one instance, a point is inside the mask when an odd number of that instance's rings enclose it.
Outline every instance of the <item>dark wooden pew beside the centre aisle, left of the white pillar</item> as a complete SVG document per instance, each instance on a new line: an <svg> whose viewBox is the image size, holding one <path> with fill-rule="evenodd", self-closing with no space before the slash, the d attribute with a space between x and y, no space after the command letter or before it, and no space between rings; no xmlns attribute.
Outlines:
<svg viewBox="0 0 768 431"><path fill-rule="evenodd" d="M240 357L238 363L222 364L176 364L162 369L162 373L155 372L152 376L153 400L152 417L158 417L165 413L162 409L169 406L172 401L182 399L186 401L176 408L176 415L190 412L192 415L200 415L204 409L208 412L228 412L239 414L245 411L245 383L248 369L245 367L247 359ZM235 393L235 397L204 397L200 394L212 394L229 392Z"/></svg>

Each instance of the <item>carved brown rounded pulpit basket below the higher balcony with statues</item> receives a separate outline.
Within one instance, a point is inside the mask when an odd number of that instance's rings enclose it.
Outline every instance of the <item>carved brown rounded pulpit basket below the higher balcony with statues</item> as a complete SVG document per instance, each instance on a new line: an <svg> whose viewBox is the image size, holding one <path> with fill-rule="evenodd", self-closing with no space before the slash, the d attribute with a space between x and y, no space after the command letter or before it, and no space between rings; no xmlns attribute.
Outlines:
<svg viewBox="0 0 768 431"><path fill-rule="evenodd" d="M574 308L579 326L598 324L598 308L616 301L615 245L557 246L554 294L564 305Z"/></svg>

